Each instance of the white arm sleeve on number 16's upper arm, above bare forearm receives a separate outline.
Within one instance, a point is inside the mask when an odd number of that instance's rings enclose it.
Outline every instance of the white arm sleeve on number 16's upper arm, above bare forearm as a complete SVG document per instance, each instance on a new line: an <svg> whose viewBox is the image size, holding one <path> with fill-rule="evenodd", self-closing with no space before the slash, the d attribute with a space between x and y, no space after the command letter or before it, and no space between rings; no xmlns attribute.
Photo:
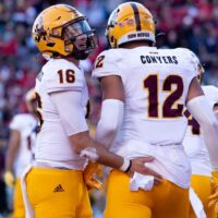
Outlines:
<svg viewBox="0 0 218 218"><path fill-rule="evenodd" d="M50 94L50 98L58 110L68 136L88 130L81 92L56 92Z"/></svg>

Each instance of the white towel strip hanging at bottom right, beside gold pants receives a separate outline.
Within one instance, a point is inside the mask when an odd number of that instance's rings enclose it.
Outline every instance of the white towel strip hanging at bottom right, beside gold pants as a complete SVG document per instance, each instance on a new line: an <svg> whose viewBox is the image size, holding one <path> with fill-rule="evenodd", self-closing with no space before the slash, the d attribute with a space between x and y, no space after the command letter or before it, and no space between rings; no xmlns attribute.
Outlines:
<svg viewBox="0 0 218 218"><path fill-rule="evenodd" d="M204 211L204 206L192 187L190 187L190 202L196 215L196 218L207 218Z"/></svg>

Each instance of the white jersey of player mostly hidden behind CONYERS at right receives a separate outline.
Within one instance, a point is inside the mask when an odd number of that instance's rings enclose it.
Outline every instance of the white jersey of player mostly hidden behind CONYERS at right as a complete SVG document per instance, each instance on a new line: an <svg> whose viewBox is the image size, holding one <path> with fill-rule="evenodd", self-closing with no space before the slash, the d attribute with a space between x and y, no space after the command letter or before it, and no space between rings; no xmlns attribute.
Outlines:
<svg viewBox="0 0 218 218"><path fill-rule="evenodd" d="M210 107L214 108L214 106L218 104L218 88L210 85L202 86L202 88ZM211 165L201 126L187 110L184 113L189 119L189 128L183 145L191 159L192 173L209 177L211 172Z"/></svg>

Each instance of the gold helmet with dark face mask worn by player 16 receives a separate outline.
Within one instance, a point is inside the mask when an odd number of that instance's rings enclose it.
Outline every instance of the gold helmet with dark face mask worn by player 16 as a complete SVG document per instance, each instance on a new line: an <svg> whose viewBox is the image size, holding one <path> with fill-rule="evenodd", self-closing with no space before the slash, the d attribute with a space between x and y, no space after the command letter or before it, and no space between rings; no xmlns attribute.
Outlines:
<svg viewBox="0 0 218 218"><path fill-rule="evenodd" d="M96 48L95 31L86 17L68 4L56 4L45 9L33 25L33 39L45 58L87 58Z"/></svg>

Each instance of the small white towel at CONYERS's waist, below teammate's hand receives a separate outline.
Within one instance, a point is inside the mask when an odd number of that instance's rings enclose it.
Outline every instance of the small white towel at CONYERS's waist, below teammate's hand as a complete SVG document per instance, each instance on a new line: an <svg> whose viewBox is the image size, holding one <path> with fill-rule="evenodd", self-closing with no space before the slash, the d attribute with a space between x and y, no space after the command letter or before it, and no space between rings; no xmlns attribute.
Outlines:
<svg viewBox="0 0 218 218"><path fill-rule="evenodd" d="M155 178L152 175L144 175L137 172L134 172L133 178L130 180L130 190L132 192L138 191L142 189L144 191L150 191L154 186Z"/></svg>

